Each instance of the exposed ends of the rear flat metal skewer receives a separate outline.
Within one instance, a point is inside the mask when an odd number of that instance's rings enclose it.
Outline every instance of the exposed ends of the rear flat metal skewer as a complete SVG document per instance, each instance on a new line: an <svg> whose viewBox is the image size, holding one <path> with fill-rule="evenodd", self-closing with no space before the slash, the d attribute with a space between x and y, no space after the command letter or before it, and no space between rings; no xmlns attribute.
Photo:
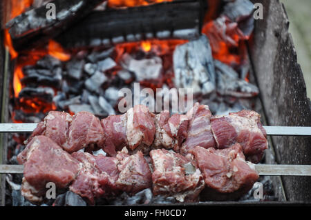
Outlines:
<svg viewBox="0 0 311 220"><path fill-rule="evenodd" d="M0 132L32 132L37 123L0 123ZM263 126L267 135L311 136L311 127Z"/></svg>

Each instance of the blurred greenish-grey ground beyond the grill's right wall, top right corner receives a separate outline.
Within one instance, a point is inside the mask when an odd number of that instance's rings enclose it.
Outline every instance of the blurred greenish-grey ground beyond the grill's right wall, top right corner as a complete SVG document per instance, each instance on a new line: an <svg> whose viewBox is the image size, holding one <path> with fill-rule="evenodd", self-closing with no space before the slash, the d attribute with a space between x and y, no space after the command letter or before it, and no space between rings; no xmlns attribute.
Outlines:
<svg viewBox="0 0 311 220"><path fill-rule="evenodd" d="M298 63L305 78L307 95L311 98L311 0L281 0L281 2L288 12L290 33L296 47Z"/></svg>

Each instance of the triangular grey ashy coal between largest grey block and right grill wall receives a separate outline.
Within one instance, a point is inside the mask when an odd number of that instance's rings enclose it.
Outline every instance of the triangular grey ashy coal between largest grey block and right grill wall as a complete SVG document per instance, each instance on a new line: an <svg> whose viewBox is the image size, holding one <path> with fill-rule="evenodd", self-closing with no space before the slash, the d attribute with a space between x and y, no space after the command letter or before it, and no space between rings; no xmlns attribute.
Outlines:
<svg viewBox="0 0 311 220"><path fill-rule="evenodd" d="M244 79L238 78L238 73L225 63L215 60L217 92L233 97L254 97L259 90Z"/></svg>

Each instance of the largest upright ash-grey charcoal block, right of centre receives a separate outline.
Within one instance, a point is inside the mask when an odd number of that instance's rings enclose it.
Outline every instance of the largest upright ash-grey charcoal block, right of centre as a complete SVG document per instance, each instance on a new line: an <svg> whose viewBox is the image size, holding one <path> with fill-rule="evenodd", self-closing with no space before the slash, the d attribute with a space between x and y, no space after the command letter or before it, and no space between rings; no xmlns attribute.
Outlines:
<svg viewBox="0 0 311 220"><path fill-rule="evenodd" d="M173 68L176 88L192 88L194 94L209 94L215 90L214 61L205 35L176 47ZM203 83L205 86L201 88Z"/></svg>

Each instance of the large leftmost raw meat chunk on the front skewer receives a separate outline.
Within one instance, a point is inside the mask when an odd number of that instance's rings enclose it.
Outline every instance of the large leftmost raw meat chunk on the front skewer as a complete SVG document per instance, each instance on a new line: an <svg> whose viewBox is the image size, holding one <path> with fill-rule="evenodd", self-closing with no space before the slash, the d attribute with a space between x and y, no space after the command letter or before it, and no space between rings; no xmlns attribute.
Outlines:
<svg viewBox="0 0 311 220"><path fill-rule="evenodd" d="M66 188L79 170L79 163L50 138L34 137L19 154L24 164L21 193L26 199L42 201L46 183L53 182L58 188Z"/></svg>

